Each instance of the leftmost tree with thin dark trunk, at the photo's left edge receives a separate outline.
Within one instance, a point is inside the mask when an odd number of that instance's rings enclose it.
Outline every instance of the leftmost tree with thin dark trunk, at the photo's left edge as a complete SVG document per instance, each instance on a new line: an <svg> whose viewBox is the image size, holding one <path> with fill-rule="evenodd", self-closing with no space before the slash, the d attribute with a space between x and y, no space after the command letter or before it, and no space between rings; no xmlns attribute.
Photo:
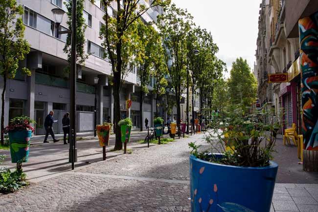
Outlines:
<svg viewBox="0 0 318 212"><path fill-rule="evenodd" d="M24 60L30 51L29 43L23 39L24 25L22 5L16 0L0 0L0 75L3 77L3 90L1 94L1 144L4 143L4 94L7 79L15 77L19 68L19 61ZM22 73L28 76L31 71L22 68Z"/></svg>

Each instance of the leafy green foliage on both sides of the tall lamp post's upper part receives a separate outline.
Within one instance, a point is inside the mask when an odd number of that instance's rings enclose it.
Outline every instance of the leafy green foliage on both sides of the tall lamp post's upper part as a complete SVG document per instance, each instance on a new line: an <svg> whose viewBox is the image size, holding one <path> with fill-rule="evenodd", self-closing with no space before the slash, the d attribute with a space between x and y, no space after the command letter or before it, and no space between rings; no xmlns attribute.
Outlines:
<svg viewBox="0 0 318 212"><path fill-rule="evenodd" d="M85 54L85 30L86 23L83 17L85 0L77 0L76 3L76 64L85 65L85 60L88 58L88 54ZM67 8L68 15L68 29L72 27L72 1L70 0L68 3L65 2ZM64 52L68 54L68 63L70 63L71 59L71 34L68 34L67 41L64 47ZM67 67L69 70L69 66Z"/></svg>

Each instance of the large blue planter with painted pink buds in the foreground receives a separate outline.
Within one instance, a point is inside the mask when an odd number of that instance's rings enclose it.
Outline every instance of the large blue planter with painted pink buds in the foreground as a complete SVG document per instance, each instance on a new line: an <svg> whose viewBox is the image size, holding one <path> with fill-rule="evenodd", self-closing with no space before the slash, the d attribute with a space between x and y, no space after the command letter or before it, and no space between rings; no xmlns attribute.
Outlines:
<svg viewBox="0 0 318 212"><path fill-rule="evenodd" d="M227 166L191 155L191 211L269 212L277 168L274 162L261 168Z"/></svg>

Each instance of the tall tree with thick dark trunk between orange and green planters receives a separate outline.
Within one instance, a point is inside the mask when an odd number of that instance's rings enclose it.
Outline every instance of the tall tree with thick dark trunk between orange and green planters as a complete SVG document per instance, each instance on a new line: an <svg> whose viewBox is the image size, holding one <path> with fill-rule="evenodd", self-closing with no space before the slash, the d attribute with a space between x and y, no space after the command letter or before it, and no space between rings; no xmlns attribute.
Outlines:
<svg viewBox="0 0 318 212"><path fill-rule="evenodd" d="M93 0L92 0L93 1ZM102 0L105 8L111 5L113 0ZM123 79L127 72L127 66L133 60L137 39L137 20L147 12L150 7L165 6L169 0L153 0L149 6L141 0L115 0L117 11L115 17L111 17L105 10L105 26L101 27L100 37L104 40L103 47L112 64L113 96L114 96L114 129L116 141L114 149L122 149L121 132L117 123L120 120L119 93Z"/></svg>

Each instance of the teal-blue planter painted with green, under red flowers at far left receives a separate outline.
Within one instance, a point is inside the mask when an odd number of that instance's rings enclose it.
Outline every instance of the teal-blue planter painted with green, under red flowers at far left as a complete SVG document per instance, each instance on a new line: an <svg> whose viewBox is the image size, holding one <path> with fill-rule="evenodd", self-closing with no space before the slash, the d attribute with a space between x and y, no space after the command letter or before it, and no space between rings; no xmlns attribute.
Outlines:
<svg viewBox="0 0 318 212"><path fill-rule="evenodd" d="M12 163L24 163L28 161L31 136L31 130L9 131L10 153Z"/></svg>

